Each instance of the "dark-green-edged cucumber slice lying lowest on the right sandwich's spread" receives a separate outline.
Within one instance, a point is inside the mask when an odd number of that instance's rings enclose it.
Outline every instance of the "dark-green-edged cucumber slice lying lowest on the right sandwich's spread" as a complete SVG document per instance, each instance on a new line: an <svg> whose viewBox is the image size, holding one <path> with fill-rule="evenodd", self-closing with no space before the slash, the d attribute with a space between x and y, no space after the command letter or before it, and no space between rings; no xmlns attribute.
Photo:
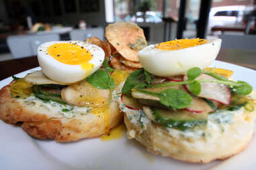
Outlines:
<svg viewBox="0 0 256 170"><path fill-rule="evenodd" d="M186 110L167 110L156 107L143 107L146 116L151 120L162 124L163 126L179 129L181 131L196 126L207 124L208 112L194 114Z"/></svg>

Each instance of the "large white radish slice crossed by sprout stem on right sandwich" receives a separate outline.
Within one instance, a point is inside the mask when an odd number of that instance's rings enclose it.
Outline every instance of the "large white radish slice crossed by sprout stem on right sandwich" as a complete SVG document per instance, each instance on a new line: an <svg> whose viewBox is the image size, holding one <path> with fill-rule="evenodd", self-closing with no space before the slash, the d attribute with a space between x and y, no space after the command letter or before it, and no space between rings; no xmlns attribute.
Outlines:
<svg viewBox="0 0 256 170"><path fill-rule="evenodd" d="M196 79L197 80L210 80L210 79L216 80L216 78L212 76L208 76L206 74L201 74ZM187 80L187 76L184 76L183 80ZM189 90L187 85L185 85L185 87L187 90ZM230 104L231 102L231 92L229 88L224 84L217 84L212 82L201 83L201 92L198 96L202 98L208 98L210 100L214 100L216 102L220 102L225 105Z"/></svg>

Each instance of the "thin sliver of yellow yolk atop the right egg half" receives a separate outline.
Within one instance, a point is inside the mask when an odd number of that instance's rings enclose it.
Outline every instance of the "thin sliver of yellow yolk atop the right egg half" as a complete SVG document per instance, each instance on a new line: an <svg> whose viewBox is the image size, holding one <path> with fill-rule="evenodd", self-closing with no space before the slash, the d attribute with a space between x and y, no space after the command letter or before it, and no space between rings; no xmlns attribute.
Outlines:
<svg viewBox="0 0 256 170"><path fill-rule="evenodd" d="M208 40L206 39L175 39L172 41L163 42L157 45L156 48L161 50L180 50L183 48L191 48L194 46L206 44Z"/></svg>

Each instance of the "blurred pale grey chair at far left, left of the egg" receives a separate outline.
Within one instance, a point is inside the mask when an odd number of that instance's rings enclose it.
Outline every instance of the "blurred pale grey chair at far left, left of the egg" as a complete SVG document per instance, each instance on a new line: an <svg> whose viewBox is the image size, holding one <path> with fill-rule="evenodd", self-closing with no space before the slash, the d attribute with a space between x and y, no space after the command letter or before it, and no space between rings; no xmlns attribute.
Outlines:
<svg viewBox="0 0 256 170"><path fill-rule="evenodd" d="M60 35L57 33L36 34L36 35L11 35L7 37L7 45L13 58L24 58L36 56L38 46L47 41L59 41Z"/></svg>

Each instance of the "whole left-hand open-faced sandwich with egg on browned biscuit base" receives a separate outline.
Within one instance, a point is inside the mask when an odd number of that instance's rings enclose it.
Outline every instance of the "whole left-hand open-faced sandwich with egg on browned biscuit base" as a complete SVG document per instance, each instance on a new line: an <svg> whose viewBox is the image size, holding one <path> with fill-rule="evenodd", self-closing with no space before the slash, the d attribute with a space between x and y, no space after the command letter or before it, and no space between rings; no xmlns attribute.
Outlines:
<svg viewBox="0 0 256 170"><path fill-rule="evenodd" d="M0 90L0 118L38 139L58 142L99 137L120 123L113 97L126 73L113 70L99 46L83 41L50 41L38 48L42 70Z"/></svg>

